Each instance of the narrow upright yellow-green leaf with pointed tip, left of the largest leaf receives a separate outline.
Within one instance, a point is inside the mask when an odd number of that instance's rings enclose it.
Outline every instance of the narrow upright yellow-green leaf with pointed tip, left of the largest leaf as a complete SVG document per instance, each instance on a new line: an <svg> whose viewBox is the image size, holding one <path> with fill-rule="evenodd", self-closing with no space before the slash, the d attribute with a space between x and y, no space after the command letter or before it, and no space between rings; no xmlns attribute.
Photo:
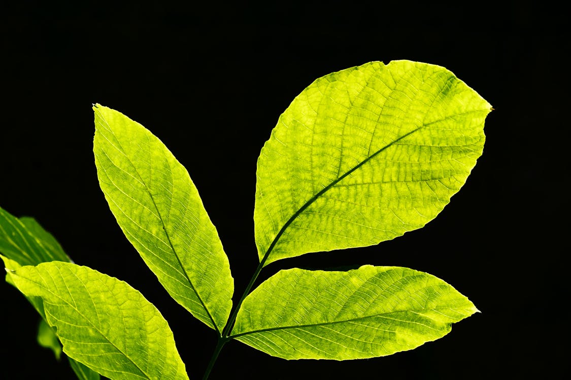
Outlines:
<svg viewBox="0 0 571 380"><path fill-rule="evenodd" d="M188 172L142 125L99 104L94 111L99 184L119 226L168 293L220 333L234 279Z"/></svg>

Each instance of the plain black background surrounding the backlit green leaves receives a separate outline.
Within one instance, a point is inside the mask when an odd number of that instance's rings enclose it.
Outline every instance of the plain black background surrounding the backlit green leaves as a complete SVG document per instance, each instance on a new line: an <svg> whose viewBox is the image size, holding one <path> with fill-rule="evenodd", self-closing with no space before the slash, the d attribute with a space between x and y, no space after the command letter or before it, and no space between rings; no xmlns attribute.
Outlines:
<svg viewBox="0 0 571 380"><path fill-rule="evenodd" d="M230 342L211 378L549 378L568 367L568 317L559 314L568 244L557 242L569 220L559 190L569 179L562 10L529 1L185 4L2 6L0 206L37 218L76 263L139 289L199 378L215 334L167 295L117 226L96 177L91 104L139 121L187 167L241 294L258 262L256 159L293 97L372 60L439 64L495 109L460 193L421 230L282 260L262 279L287 267L399 265L444 279L482 313L441 340L368 360L285 361ZM0 297L0 378L74 378L35 344L27 301L7 284Z"/></svg>

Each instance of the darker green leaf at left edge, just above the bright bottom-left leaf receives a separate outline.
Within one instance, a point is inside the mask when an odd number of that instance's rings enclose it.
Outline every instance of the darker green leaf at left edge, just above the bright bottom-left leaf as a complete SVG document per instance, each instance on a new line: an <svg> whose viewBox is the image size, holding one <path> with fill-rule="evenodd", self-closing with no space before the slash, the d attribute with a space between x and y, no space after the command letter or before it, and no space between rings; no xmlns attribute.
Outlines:
<svg viewBox="0 0 571 380"><path fill-rule="evenodd" d="M0 207L0 253L20 265L70 261L54 237L32 218L18 219Z"/></svg>

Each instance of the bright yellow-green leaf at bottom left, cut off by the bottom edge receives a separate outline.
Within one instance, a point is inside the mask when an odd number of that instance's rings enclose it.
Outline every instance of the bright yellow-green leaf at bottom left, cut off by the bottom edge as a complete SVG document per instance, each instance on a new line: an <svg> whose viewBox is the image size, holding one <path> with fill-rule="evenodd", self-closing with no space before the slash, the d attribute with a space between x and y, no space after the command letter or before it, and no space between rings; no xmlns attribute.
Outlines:
<svg viewBox="0 0 571 380"><path fill-rule="evenodd" d="M167 321L127 283L59 261L11 277L27 297L42 298L67 356L111 379L188 378Z"/></svg>

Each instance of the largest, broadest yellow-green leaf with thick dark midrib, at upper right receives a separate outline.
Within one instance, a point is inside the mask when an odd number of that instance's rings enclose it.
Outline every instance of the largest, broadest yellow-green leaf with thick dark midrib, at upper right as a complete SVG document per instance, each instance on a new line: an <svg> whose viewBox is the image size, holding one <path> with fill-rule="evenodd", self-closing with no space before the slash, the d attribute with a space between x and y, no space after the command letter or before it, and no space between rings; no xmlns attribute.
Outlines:
<svg viewBox="0 0 571 380"><path fill-rule="evenodd" d="M465 183L490 104L443 67L372 62L314 81L258 160L265 264L423 227Z"/></svg>

